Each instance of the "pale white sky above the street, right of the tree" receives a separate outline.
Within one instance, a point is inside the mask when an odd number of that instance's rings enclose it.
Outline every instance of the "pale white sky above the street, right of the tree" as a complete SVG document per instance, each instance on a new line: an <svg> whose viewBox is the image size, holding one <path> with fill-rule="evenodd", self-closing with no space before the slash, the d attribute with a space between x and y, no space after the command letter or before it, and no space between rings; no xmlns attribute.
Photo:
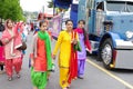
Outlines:
<svg viewBox="0 0 133 89"><path fill-rule="evenodd" d="M48 1L51 0L20 0L20 6L25 11L42 11L42 7L47 9Z"/></svg>

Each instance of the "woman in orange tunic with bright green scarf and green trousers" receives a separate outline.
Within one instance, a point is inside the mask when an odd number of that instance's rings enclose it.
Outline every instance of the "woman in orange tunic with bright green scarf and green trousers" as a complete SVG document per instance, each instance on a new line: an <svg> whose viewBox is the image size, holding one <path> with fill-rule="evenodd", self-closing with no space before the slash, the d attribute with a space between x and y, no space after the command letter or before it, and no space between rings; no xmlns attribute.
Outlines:
<svg viewBox="0 0 133 89"><path fill-rule="evenodd" d="M52 69L51 41L48 22L40 21L40 30L33 36L31 52L31 81L34 89L45 89L48 72Z"/></svg>

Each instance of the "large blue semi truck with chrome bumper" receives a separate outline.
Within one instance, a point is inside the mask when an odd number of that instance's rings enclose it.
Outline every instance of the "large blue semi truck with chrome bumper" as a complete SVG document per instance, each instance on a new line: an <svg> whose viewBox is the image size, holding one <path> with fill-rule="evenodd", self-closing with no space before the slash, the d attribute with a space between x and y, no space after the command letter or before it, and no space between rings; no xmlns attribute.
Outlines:
<svg viewBox="0 0 133 89"><path fill-rule="evenodd" d="M133 0L80 0L78 19L106 69L133 69Z"/></svg>

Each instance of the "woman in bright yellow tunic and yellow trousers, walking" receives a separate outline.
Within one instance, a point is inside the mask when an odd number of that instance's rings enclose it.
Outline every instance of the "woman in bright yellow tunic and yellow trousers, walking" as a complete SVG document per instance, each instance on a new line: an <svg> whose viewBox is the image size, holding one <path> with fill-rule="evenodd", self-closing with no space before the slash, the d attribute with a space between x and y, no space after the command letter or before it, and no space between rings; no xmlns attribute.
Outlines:
<svg viewBox="0 0 133 89"><path fill-rule="evenodd" d="M70 60L71 60L71 43L75 43L76 39L72 39L73 33L73 22L72 20L66 20L65 22L66 30L61 31L55 48L53 50L53 59L55 59L55 55L58 49L60 48L59 55L59 68L60 68L60 86L62 89L68 89L69 83L69 69L70 69Z"/></svg>

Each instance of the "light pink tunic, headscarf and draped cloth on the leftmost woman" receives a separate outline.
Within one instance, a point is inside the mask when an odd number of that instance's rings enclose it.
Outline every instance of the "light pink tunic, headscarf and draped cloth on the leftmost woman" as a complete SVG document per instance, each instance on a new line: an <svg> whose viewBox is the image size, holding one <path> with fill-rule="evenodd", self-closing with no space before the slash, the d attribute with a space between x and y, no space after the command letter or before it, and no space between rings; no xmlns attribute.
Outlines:
<svg viewBox="0 0 133 89"><path fill-rule="evenodd" d="M21 39L18 38L19 34L17 30L18 30L18 26L14 26L11 30L12 32L11 34L10 30L7 27L7 22L6 22L6 30L3 31L2 39L1 39L2 43L4 44L6 59L11 59L12 57L21 56L21 52L16 49L17 47L22 44Z"/></svg>

